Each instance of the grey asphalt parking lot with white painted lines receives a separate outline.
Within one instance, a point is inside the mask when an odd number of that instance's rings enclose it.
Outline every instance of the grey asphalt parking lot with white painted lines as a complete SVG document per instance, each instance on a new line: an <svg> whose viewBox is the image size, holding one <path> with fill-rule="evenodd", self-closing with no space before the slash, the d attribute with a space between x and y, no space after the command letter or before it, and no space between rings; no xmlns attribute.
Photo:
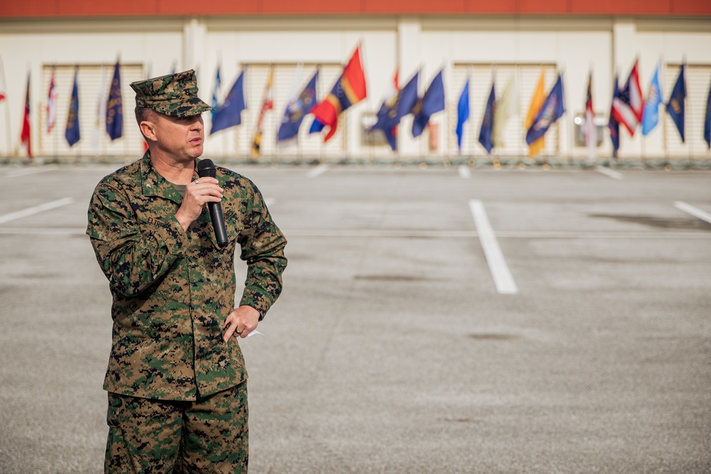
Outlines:
<svg viewBox="0 0 711 474"><path fill-rule="evenodd" d="M1 473L102 471L114 168L0 167ZM230 168L289 239L251 472L711 472L711 171Z"/></svg>

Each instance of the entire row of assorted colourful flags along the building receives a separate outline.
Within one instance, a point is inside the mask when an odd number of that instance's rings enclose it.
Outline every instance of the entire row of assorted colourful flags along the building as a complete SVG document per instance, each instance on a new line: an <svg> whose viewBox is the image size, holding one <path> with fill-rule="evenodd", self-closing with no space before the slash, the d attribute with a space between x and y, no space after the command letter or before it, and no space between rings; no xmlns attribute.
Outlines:
<svg viewBox="0 0 711 474"><path fill-rule="evenodd" d="M614 94L611 101L608 129L614 156L619 150L619 125L622 124L634 136L637 126L641 126L643 136L648 135L659 122L659 107L665 107L670 119L675 124L680 138L685 141L685 64L680 66L679 74L673 90L667 102L663 102L661 82L659 74L661 64L658 64L648 94L645 99L640 87L638 60L635 61L629 77L624 87L619 87L619 80L615 77ZM121 66L119 61L114 65L114 74L109 87L109 95L104 101L100 99L100 110L97 117L104 117L105 129L111 140L118 139L123 134L122 116L122 94L121 94ZM242 111L247 109L247 98L245 95L245 72L242 69L240 75L232 85L228 95L220 103L220 68L215 75L215 88L213 90L212 106L212 128L210 134L238 126L242 123ZM427 90L421 97L419 91L419 76L421 70L417 70L407 81L405 86L400 88L398 75L395 72L390 91L387 93L380 109L376 114L376 122L370 128L381 130L393 151L397 150L397 126L403 117L412 115L412 136L417 137L422 134L429 123L430 117L445 109L444 79L443 70L439 70L429 83ZM69 146L74 146L81 139L79 127L79 93L78 93L78 66L75 68L74 81L71 92L70 106L68 110L65 139ZM349 107L362 101L367 97L365 70L360 55L360 45L355 48L351 58L343 68L343 72L338 77L331 88L331 92L320 102L316 97L316 84L319 80L319 70L316 69L306 86L299 92L298 82L301 77L301 66L298 73L294 75L291 99L282 115L279 129L277 131L277 142L294 139L298 136L301 123L306 115L313 115L313 121L309 128L309 133L320 133L326 130L324 141L330 140L338 128L338 116ZM262 124L265 114L274 108L272 98L272 84L274 80L273 68L269 70L267 83L264 87L264 97L262 107L257 118L255 134L252 139L252 156L260 154L262 144ZM456 110L457 145L461 152L462 139L464 136L464 124L469 120L469 82L467 77L464 87L459 95ZM515 86L515 76L512 74L507 82L501 97L497 97L494 80L491 82L491 90L486 100L481 127L479 129L479 143L488 153L496 147L503 147L503 128L507 120L516 114L518 97ZM102 87L103 89L103 87ZM31 121L30 121L30 77L27 78L26 99L23 113L23 125L21 129L21 143L26 146L28 156L31 152ZM5 98L4 91L0 90L0 101ZM46 105L47 133L51 133L57 121L57 90L55 86L55 70L50 73L50 84ZM545 148L545 134L550 126L565 113L565 97L562 82L562 75L557 76L555 85L545 94L545 70L541 70L540 77L535 87L533 97L530 102L528 113L524 120L525 141L529 146L529 156L536 156ZM98 124L98 119L97 119ZM597 127L594 124L594 107L592 104L592 71L588 77L587 94L585 102L585 120L583 133L589 151L589 157L594 158L597 148ZM711 147L711 90L707 100L704 139Z"/></svg>

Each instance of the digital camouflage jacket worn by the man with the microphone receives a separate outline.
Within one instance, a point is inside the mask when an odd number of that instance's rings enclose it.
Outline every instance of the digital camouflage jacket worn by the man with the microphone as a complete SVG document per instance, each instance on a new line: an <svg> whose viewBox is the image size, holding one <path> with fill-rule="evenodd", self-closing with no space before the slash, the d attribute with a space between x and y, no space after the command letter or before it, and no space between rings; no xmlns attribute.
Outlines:
<svg viewBox="0 0 711 474"><path fill-rule="evenodd" d="M247 379L237 338L223 340L235 306L235 249L247 262L240 304L261 319L282 291L287 241L252 181L220 167L216 178L226 247L215 241L206 209L183 231L175 217L181 195L149 152L97 185L87 235L113 296L107 391L194 400Z"/></svg>

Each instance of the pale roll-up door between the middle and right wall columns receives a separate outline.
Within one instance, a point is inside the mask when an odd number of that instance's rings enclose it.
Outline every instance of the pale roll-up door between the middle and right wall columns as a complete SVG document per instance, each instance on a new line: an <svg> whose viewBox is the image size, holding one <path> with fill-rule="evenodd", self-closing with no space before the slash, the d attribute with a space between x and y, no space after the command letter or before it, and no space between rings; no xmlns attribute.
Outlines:
<svg viewBox="0 0 711 474"><path fill-rule="evenodd" d="M494 90L497 99L501 99L511 75L516 83L517 113L509 117L503 129L504 146L494 148L492 156L511 157L528 156L528 145L525 142L526 131L523 126L528 107L533 98L533 91L538 83L541 68L545 71L545 92L550 92L557 79L555 65L496 65L496 70L491 64L456 64L454 77L452 77L451 94L448 95L447 104L449 119L449 149L451 154L457 153L456 133L454 131L457 121L457 103L464 88L466 78L469 77L469 120L464 124L464 137L462 139L461 154L466 156L486 156L486 149L479 144L479 131L489 93L491 92L492 79L495 81ZM557 156L558 123L552 125L545 134L545 149L539 158Z"/></svg>

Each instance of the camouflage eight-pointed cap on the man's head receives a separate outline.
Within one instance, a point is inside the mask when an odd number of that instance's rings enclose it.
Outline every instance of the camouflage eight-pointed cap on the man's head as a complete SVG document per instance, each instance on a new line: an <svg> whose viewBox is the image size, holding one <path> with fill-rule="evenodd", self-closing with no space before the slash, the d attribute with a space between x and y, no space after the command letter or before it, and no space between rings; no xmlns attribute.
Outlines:
<svg viewBox="0 0 711 474"><path fill-rule="evenodd" d="M198 97L195 71L176 72L131 83L136 107L147 107L172 117L191 117L213 110Z"/></svg>

